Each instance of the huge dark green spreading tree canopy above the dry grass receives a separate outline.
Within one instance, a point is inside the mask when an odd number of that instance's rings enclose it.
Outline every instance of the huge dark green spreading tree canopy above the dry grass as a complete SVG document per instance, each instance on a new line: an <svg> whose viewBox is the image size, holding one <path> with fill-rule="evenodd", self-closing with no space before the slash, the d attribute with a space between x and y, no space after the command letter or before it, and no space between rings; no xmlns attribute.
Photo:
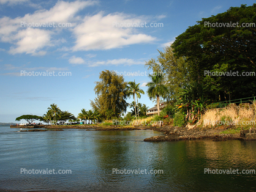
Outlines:
<svg viewBox="0 0 256 192"><path fill-rule="evenodd" d="M215 100L255 95L255 76L241 74L256 72L256 31L255 26L248 25L256 23L256 4L230 7L227 12L197 23L176 37L171 45L177 57L186 57L190 82L208 85ZM205 75L205 72L230 71L239 75Z"/></svg>

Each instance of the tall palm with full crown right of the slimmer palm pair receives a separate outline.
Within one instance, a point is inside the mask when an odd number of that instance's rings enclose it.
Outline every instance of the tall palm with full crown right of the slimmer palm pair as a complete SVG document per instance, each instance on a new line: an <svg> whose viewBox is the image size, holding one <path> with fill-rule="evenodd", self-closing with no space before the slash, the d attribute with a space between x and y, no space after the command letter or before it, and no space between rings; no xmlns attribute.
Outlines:
<svg viewBox="0 0 256 192"><path fill-rule="evenodd" d="M168 89L164 85L164 75L160 72L157 72L157 75L149 75L151 78L151 82L146 84L148 86L148 96L149 99L152 100L153 98L156 98L157 100L157 113L160 115L160 109L159 109L159 100L160 97L166 98L168 94Z"/></svg>

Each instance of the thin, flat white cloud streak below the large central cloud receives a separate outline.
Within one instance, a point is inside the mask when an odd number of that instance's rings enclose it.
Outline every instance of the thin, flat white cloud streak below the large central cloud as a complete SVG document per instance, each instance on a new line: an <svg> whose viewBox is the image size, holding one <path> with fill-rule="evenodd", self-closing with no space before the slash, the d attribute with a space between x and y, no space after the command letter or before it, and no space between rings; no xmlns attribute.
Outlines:
<svg viewBox="0 0 256 192"><path fill-rule="evenodd" d="M99 65L143 65L145 61L135 61L134 59L113 59L107 61L88 62L90 67L97 67Z"/></svg>

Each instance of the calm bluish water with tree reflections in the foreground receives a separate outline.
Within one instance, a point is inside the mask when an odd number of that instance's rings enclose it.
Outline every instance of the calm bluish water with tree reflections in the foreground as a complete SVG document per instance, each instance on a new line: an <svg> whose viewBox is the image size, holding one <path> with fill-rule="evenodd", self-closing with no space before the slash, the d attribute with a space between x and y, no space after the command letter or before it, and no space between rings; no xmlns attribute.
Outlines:
<svg viewBox="0 0 256 192"><path fill-rule="evenodd" d="M256 191L256 174L204 174L255 169L255 141L143 142L156 131L17 132L0 127L0 190ZM113 174L112 169L164 174ZM21 174L70 169L72 174Z"/></svg>

